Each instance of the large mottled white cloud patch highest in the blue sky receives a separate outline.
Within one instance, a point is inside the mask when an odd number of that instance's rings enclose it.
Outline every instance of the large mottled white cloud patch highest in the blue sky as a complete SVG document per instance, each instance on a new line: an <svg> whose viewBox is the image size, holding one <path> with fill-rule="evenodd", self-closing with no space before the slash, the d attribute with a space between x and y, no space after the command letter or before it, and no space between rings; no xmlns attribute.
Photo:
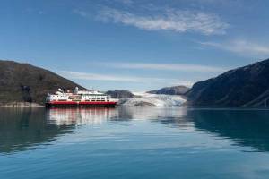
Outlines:
<svg viewBox="0 0 269 179"><path fill-rule="evenodd" d="M156 12L146 12L142 15L129 13L112 8L104 8L100 11L98 20L113 21L131 25L143 30L173 30L176 32L199 32L204 35L225 34L229 24L221 21L220 17L213 13L197 11L181 11L163 9Z"/></svg>

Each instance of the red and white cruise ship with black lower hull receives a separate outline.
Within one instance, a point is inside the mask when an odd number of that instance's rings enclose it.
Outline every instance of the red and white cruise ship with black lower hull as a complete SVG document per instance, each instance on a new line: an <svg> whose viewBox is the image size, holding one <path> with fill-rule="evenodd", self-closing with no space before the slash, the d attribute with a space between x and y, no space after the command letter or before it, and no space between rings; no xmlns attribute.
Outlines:
<svg viewBox="0 0 269 179"><path fill-rule="evenodd" d="M48 94L46 107L115 107L117 99L97 90L79 90L74 92L58 89L55 94Z"/></svg>

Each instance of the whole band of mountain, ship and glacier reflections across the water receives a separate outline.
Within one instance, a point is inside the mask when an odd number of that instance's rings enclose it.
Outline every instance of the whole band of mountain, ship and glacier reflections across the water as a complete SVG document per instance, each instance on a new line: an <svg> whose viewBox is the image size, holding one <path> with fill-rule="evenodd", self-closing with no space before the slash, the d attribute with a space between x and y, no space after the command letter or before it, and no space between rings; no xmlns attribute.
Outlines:
<svg viewBox="0 0 269 179"><path fill-rule="evenodd" d="M87 109L0 108L0 153L39 149L82 125L149 120L166 127L192 128L232 145L269 151L269 111L213 110L186 107Z"/></svg>

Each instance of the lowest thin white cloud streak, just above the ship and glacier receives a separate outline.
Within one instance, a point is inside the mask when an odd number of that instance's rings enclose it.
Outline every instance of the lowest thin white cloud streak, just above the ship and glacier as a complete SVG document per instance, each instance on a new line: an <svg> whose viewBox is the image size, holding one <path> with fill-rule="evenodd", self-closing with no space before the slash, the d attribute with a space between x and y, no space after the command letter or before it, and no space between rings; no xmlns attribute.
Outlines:
<svg viewBox="0 0 269 179"><path fill-rule="evenodd" d="M148 77L137 77L137 76L117 76L117 75L104 75L98 73L88 73L88 72L70 72L70 71L60 71L61 75L66 78L74 80L86 80L86 81L123 81L123 82L160 82L169 84L182 84L191 86L194 81L181 81L178 79L163 79L163 78L148 78Z"/></svg>

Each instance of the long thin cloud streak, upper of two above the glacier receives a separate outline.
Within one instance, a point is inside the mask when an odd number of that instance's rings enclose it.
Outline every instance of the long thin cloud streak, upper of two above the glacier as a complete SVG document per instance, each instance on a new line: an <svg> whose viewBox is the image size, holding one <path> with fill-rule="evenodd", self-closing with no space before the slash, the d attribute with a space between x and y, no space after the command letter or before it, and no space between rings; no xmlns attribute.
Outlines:
<svg viewBox="0 0 269 179"><path fill-rule="evenodd" d="M156 63L109 63L100 62L94 63L102 66L122 69L145 69L145 70L162 70L162 71L177 71L177 72L224 72L225 68L198 65L198 64L156 64Z"/></svg>

